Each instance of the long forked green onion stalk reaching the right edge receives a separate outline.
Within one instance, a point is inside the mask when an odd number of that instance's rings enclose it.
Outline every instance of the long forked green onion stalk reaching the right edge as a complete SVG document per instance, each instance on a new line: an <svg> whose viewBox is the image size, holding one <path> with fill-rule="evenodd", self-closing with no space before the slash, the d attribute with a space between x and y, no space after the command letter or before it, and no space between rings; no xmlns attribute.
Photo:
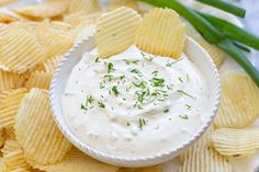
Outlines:
<svg viewBox="0 0 259 172"><path fill-rule="evenodd" d="M217 24L215 21L212 22L213 20L212 18L209 20L207 19L209 16L205 16L204 14L199 13L195 10L183 5L177 0L139 0L139 1L147 2L149 4L159 8L169 8L178 12L185 20L188 20L209 43L216 45L218 48L228 54L237 64L239 64L246 70L246 72L251 77L255 83L259 87L258 70L256 69L256 67L251 65L251 62L247 59L245 54L233 43L233 39L237 39L244 44L246 43L246 45L257 47L258 46L257 37L254 37L251 34L244 32L243 30L236 26L235 27L233 25L229 26L228 24L227 24L228 26L225 26L225 28L221 30L218 27L222 26L221 25L215 26ZM224 25L226 23L224 22ZM237 35L235 36L235 34ZM246 36L243 37L244 39L241 39L240 35L246 35ZM254 43L248 43L250 41L252 41Z"/></svg>

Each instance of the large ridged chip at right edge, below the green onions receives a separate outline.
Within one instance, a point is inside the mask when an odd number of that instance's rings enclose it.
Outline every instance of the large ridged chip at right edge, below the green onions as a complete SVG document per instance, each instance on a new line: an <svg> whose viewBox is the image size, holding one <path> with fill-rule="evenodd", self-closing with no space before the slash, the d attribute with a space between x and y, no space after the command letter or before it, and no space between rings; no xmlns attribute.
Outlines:
<svg viewBox="0 0 259 172"><path fill-rule="evenodd" d="M248 74L241 72L224 72L221 81L223 95L215 126L248 126L259 116L259 88Z"/></svg>

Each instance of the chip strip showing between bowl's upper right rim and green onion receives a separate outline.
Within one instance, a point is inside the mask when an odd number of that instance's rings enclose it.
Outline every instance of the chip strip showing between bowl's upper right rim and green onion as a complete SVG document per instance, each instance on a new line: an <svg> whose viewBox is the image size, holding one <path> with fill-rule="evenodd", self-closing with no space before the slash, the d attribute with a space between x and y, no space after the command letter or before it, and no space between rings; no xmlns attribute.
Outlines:
<svg viewBox="0 0 259 172"><path fill-rule="evenodd" d="M187 25L188 36L190 36L198 44L200 44L210 54L216 67L219 68L225 59L226 56L225 53L219 48L217 48L215 45L212 45L209 42L206 42L190 23L185 23L185 25Z"/></svg>

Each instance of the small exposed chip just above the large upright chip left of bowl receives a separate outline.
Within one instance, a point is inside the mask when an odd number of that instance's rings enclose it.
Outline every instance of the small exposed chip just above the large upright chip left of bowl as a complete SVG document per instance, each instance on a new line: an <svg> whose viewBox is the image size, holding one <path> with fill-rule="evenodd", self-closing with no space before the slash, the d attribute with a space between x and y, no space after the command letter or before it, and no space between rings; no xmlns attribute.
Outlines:
<svg viewBox="0 0 259 172"><path fill-rule="evenodd" d="M49 89L52 82L53 73L45 71L35 71L32 72L29 80L25 82L25 88L40 88L40 89Z"/></svg>

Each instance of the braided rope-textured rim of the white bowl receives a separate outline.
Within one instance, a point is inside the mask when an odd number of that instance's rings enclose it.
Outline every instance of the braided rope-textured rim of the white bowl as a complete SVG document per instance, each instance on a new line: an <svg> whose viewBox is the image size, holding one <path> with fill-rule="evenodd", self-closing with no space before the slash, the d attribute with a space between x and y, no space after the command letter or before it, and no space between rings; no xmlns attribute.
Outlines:
<svg viewBox="0 0 259 172"><path fill-rule="evenodd" d="M63 113L58 113L58 111L56 110L55 92L56 92L56 89L58 89L56 87L57 85L57 78L59 74L61 74L61 69L64 67L64 64L66 64L68 61L68 59L71 57L70 55L74 51L76 51L81 45L86 44L91 38L93 38L93 37L89 37L89 38L83 39L83 41L79 42L78 44L76 44L70 49L70 51L61 59L57 69L54 72L54 76L53 76L53 79L50 82L50 88L49 88L49 101L50 101L50 108L53 111L54 121L55 121L56 125L58 126L59 130L63 133L63 135L74 146L76 146L78 149L80 149L81 151L83 151L88 156L93 157L100 161L103 161L103 162L106 162L110 164L122 165L122 167L146 167L146 165L153 165L153 164L158 164L158 163L165 162L165 161L173 158L173 156L174 157L178 156L176 153L181 152L182 150L190 147L192 144L194 144L195 140L198 140L207 130L207 128L213 123L213 119L216 116L217 110L219 107L221 95L222 95L219 73L218 73L216 66L213 62L210 54L201 45L199 45L195 41L188 37L188 41L191 42L192 44L194 44L195 46L198 46L200 48L200 50L204 54L204 58L207 58L207 60L211 65L210 68L212 68L213 74L216 78L216 81L215 81L215 83L216 83L215 95L216 96L212 100L212 101L214 101L213 105L212 105L213 110L210 111L206 121L202 124L202 127L200 127L196 130L195 135L190 137L190 139L185 140L179 147L174 147L172 149L169 149L168 151L160 152L160 153L157 153L154 156L138 157L138 158L133 158L133 157L127 158L127 157L121 157L121 156L105 153L105 152L102 152L102 151L94 149L91 146L82 142L77 136L75 136L75 134L72 134L72 131L71 131L71 129L69 129L68 125L64 126L60 123L60 117L61 117Z"/></svg>

